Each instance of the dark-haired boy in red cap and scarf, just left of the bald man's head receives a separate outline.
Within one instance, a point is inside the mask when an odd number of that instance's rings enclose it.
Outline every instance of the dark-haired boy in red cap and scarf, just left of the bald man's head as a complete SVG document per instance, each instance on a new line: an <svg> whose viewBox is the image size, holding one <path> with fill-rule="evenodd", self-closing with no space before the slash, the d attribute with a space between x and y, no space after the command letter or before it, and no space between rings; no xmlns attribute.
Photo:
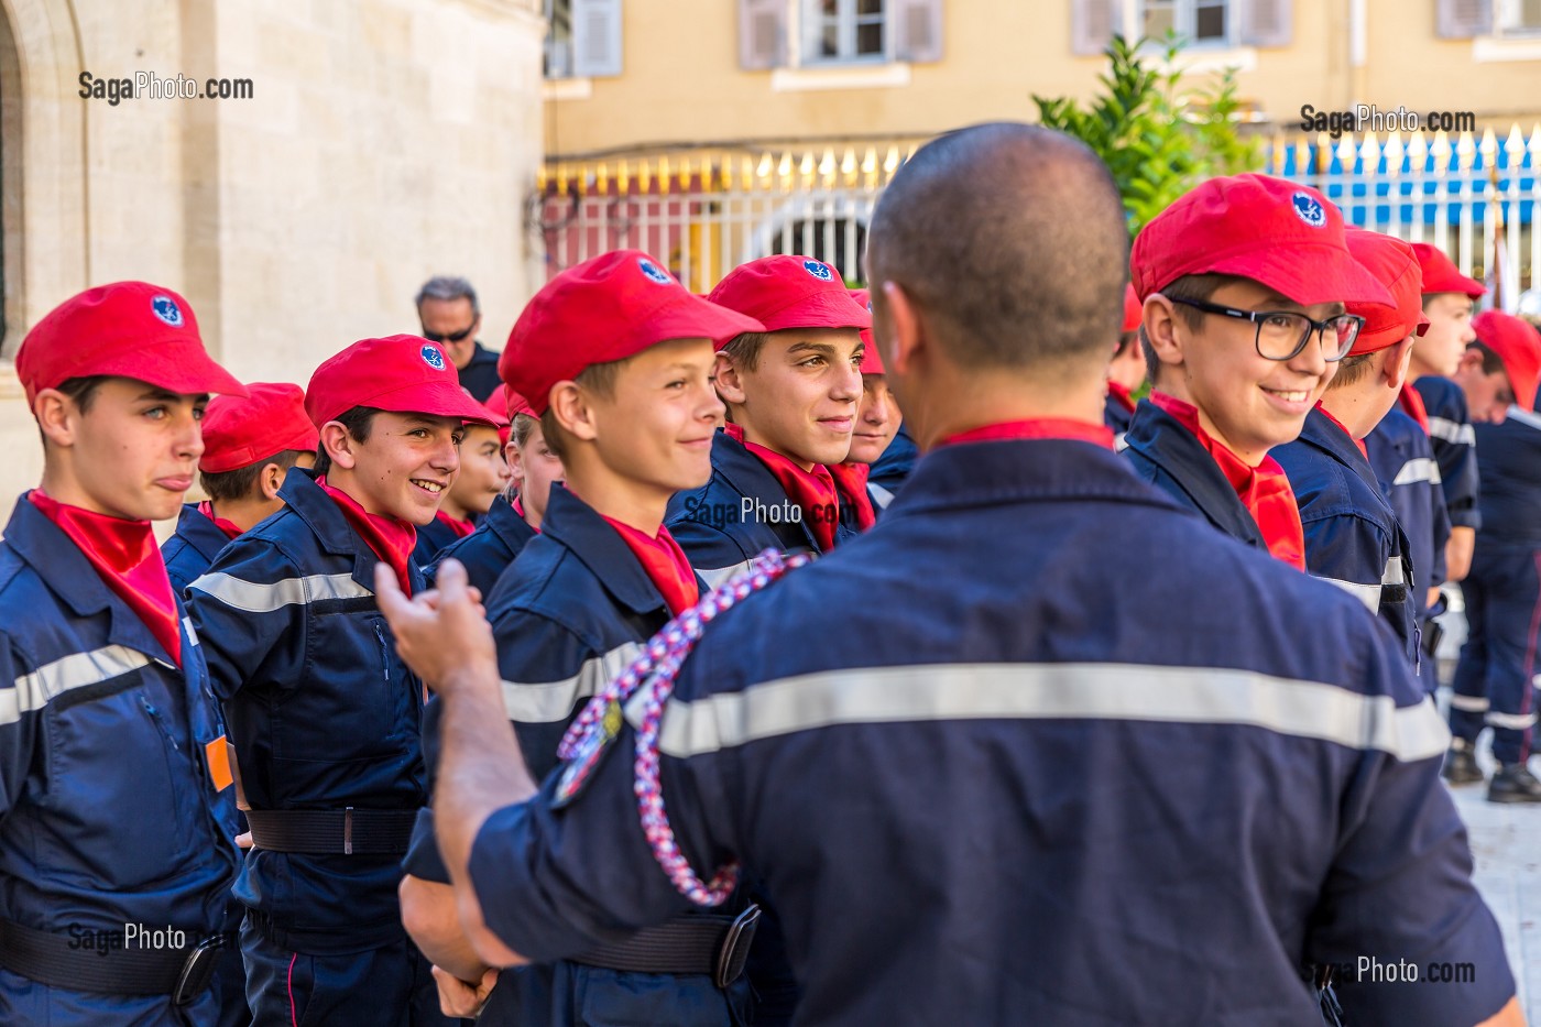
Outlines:
<svg viewBox="0 0 1541 1027"><path fill-rule="evenodd" d="M717 584L763 549L828 552L854 537L829 466L851 453L872 315L840 271L801 256L743 264L709 299L766 325L720 347L713 381L729 424L712 444L712 480L669 504L670 530Z"/></svg>

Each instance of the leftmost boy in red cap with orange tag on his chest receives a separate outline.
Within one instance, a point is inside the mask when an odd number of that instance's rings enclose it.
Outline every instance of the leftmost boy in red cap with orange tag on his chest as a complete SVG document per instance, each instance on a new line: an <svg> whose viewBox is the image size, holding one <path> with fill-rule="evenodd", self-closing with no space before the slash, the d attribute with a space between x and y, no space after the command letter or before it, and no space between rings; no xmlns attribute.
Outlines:
<svg viewBox="0 0 1541 1027"><path fill-rule="evenodd" d="M0 541L0 1022L213 1024L234 790L151 521L193 484L208 393L245 387L148 282L71 298L15 370L43 480Z"/></svg>

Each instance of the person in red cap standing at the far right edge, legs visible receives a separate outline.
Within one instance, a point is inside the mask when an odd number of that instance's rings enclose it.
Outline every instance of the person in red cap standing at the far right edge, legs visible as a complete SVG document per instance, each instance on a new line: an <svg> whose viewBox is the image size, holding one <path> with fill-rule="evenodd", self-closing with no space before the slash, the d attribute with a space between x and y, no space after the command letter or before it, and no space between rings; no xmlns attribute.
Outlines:
<svg viewBox="0 0 1541 1027"><path fill-rule="evenodd" d="M1533 803L1541 802L1541 780L1529 769L1541 671L1541 336L1496 310L1478 315L1472 327L1476 339L1455 379L1476 421L1482 523L1461 584L1467 641L1450 697L1455 737L1444 774L1453 785L1482 780L1473 753L1486 723L1498 760L1487 799Z"/></svg>

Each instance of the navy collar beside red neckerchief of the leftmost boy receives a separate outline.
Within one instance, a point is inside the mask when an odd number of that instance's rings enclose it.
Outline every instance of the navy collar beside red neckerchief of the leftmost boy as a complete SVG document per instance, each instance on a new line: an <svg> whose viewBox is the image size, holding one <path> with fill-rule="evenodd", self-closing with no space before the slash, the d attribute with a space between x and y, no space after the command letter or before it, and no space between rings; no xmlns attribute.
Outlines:
<svg viewBox="0 0 1541 1027"><path fill-rule="evenodd" d="M5 541L72 614L77 617L91 617L103 611L111 614L108 643L143 652L171 666L171 654L156 641L139 614L131 611L128 603L102 581L96 567L69 540L69 535L65 535L25 497L11 512L11 523L5 527ZM177 609L180 611L180 600ZM186 640L183 638L185 648ZM183 666L194 666L188 652L183 654Z"/></svg>

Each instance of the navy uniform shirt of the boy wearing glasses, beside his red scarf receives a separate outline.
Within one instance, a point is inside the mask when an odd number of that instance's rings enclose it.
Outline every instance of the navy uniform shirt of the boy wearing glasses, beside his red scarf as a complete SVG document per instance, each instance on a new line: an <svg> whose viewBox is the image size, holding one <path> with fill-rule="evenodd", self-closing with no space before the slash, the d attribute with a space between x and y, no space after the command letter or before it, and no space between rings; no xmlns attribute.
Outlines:
<svg viewBox="0 0 1541 1027"><path fill-rule="evenodd" d="M1225 472L1182 421L1150 399L1140 399L1123 441L1123 456L1139 478L1204 515L1231 538L1268 552L1262 529Z"/></svg>

